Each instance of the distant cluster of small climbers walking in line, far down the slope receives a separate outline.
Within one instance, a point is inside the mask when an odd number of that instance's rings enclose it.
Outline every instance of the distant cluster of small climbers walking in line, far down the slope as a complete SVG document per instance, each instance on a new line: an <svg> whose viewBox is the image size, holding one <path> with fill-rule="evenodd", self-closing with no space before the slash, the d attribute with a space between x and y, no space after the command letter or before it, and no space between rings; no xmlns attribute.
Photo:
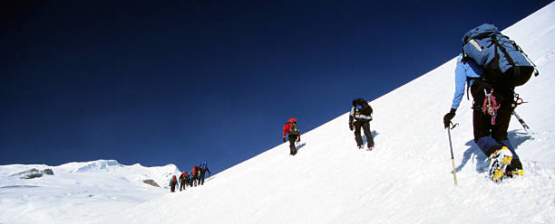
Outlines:
<svg viewBox="0 0 555 224"><path fill-rule="evenodd" d="M200 165L193 166L189 173L181 173L179 183L177 176L173 175L170 179L170 191L175 191L177 186L179 186L180 191L183 191L187 186L196 187L198 185L204 185L204 179L207 172L210 173L208 163L203 161Z"/></svg>

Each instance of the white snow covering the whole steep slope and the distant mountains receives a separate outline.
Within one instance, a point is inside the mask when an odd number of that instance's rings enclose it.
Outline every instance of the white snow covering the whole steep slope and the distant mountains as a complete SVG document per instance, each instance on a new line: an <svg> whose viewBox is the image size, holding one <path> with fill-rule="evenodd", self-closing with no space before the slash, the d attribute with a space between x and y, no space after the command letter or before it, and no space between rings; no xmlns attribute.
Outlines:
<svg viewBox="0 0 555 224"><path fill-rule="evenodd" d="M493 183L472 141L471 101L453 122L454 163L443 115L453 98L455 60L371 102L376 149L356 149L348 114L287 144L170 193L175 165L115 161L61 166L0 166L0 223L555 223L555 3L502 33L519 42L540 70L516 89L530 103L516 109L509 137L524 176ZM438 50L439 51L439 50ZM349 109L346 103L346 110ZM300 123L302 126L302 123ZM14 173L51 168L22 180Z"/></svg>

